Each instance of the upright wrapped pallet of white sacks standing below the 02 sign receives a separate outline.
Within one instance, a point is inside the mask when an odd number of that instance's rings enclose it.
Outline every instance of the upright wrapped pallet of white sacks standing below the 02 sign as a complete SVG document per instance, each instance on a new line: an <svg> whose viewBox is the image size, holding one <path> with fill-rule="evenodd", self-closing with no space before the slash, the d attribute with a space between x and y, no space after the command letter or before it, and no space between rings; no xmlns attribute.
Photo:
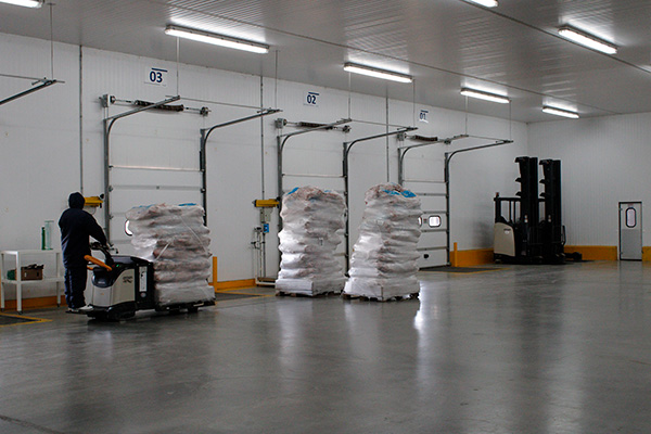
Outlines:
<svg viewBox="0 0 651 434"><path fill-rule="evenodd" d="M342 242L345 208L341 194L316 187L296 188L283 196L279 293L342 292L346 278L334 251Z"/></svg>

